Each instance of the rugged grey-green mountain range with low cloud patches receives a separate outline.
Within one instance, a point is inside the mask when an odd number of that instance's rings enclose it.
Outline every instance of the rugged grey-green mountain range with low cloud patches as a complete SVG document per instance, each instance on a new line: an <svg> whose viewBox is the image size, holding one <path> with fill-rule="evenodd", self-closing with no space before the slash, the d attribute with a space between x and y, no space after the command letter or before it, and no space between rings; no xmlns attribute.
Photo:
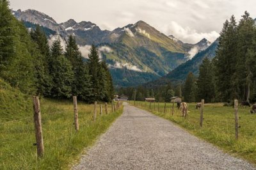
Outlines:
<svg viewBox="0 0 256 170"><path fill-rule="evenodd" d="M196 44L183 43L142 20L108 31L92 22L73 19L58 24L49 15L36 10L17 10L13 15L28 29L36 24L42 26L50 44L60 36L65 46L68 35L73 35L84 58L88 57L90 45L96 45L100 58L108 63L116 87L135 86L162 76L173 77L179 72L175 70L195 61L197 53L207 51L211 45L205 38Z"/></svg>

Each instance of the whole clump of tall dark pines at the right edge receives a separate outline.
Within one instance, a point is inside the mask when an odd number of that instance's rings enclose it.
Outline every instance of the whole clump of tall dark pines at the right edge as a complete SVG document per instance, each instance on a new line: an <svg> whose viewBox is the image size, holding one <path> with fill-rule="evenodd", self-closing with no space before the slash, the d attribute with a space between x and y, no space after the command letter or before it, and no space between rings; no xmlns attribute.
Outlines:
<svg viewBox="0 0 256 170"><path fill-rule="evenodd" d="M239 24L226 21L216 51L216 87L221 100L255 100L255 22L245 12ZM252 93L251 93L252 91Z"/></svg>

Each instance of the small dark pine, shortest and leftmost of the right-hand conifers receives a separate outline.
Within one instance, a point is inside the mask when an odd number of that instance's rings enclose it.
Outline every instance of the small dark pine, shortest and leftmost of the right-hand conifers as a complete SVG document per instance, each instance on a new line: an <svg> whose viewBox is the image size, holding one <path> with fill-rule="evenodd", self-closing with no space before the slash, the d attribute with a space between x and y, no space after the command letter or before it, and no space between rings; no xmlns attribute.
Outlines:
<svg viewBox="0 0 256 170"><path fill-rule="evenodd" d="M196 79L192 72L188 73L186 82L184 84L183 96L185 102L196 101Z"/></svg>

